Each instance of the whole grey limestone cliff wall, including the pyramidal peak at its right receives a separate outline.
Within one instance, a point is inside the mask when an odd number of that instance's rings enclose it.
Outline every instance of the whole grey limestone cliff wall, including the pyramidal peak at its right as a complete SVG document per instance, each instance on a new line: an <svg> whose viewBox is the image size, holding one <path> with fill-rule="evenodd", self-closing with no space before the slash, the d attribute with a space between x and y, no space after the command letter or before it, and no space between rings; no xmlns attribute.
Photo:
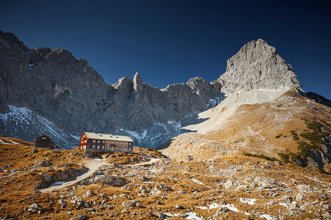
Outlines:
<svg viewBox="0 0 331 220"><path fill-rule="evenodd" d="M301 89L292 66L261 39L231 57L218 80L196 77L162 90L143 83L138 73L109 85L86 60L64 49L28 49L2 31L0 58L0 113L9 112L8 105L26 107L75 136L180 121L205 110L223 90Z"/></svg>

